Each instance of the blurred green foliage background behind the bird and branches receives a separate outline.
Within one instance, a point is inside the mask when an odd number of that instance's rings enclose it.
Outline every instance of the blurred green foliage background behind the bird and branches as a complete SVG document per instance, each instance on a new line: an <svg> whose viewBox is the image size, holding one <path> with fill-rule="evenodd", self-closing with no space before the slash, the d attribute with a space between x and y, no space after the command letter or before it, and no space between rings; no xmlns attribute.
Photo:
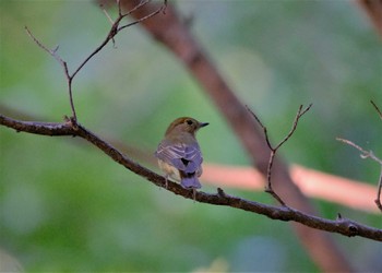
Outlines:
<svg viewBox="0 0 382 273"><path fill-rule="evenodd" d="M273 140L284 138L300 104L313 103L280 151L288 163L377 185L378 164L335 141L353 140L382 157L382 124L370 104L382 107L382 44L355 2L174 4ZM110 22L94 1L0 1L1 114L60 122L70 115L62 68L24 26L47 47L59 45L73 71ZM170 121L192 116L211 123L199 133L206 163L250 165L198 83L139 25L91 60L73 88L83 126L147 159ZM81 139L0 127L0 249L25 271L319 271L288 223L160 190ZM273 203L264 192L227 192ZM341 212L382 226L381 214L312 202L323 217ZM382 271L381 244L333 238L357 270Z"/></svg>

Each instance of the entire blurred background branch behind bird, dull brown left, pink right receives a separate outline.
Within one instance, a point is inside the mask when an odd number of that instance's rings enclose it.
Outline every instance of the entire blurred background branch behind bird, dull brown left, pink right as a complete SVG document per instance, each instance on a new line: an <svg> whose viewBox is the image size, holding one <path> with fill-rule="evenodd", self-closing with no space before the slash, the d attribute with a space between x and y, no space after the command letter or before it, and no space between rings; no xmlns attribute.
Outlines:
<svg viewBox="0 0 382 273"><path fill-rule="evenodd" d="M37 118L36 116L11 109L1 104L0 112L19 120L45 120L44 118ZM157 161L153 157L151 150L129 145L129 143L116 139L107 139L106 141L122 153L129 154L130 157L138 162L144 163L150 167L157 166ZM373 202L374 187L369 183L310 169L296 164L289 166L289 174L294 183L307 197L321 199L366 213L380 212ZM203 163L203 176L201 180L203 185L210 185L212 187L249 191L264 189L265 182L262 174L253 167L222 165L211 162ZM343 189L346 189L346 194L336 193Z"/></svg>

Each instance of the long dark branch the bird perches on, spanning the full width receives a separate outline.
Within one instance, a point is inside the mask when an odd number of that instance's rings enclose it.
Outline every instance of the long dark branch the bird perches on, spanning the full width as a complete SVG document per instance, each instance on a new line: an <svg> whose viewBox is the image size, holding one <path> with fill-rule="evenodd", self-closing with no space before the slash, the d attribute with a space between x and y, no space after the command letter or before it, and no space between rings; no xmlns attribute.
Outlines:
<svg viewBox="0 0 382 273"><path fill-rule="evenodd" d="M166 179L163 176L159 176L156 173L135 163L127 155L123 155L121 152L115 149L112 145L110 145L93 132L85 129L80 123L77 123L77 129L74 129L73 124L68 121L63 123L31 122L15 120L0 115L0 124L5 126L8 128L12 128L17 132L27 132L52 136L80 136L86 140L87 142L91 142L93 145L97 146L105 154L111 157L115 162L121 164L122 166L135 173L136 175L145 178L146 180L151 181L156 186L159 186L162 188L166 187ZM382 229L366 226L355 221L343 217L337 218L335 221L325 219L306 214L301 211L294 210L287 206L277 207L232 197L225 193L223 190L218 190L215 194L196 191L195 195L193 195L192 190L183 189L179 183L172 182L170 180L168 180L167 190L187 199L194 199L195 201L201 203L230 206L242 211L262 214L272 219L279 219L285 222L293 221L315 229L321 229L330 233L337 233L349 237L359 236L377 241L382 241Z"/></svg>

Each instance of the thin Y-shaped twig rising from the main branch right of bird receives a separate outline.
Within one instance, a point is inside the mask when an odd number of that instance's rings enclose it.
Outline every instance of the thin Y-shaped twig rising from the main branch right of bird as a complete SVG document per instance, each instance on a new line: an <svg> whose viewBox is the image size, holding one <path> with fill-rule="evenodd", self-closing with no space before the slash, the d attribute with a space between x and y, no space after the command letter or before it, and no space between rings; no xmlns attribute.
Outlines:
<svg viewBox="0 0 382 273"><path fill-rule="evenodd" d="M312 107L312 104L310 104L307 108L302 109L302 105L300 105L300 107L298 108L298 111L296 114L296 117L295 117L295 120L294 120L294 123L293 123L293 127L289 131L289 133L276 145L276 146L273 146L271 144L271 141L270 141L270 136L267 134L267 129L266 127L261 122L261 120L259 119L259 117L247 106L247 109L252 114L252 116L254 117L254 119L258 121L258 123L260 124L260 127L263 129L264 131L264 135L265 135L265 141L266 141L266 144L267 146L270 147L271 150L271 156L270 156L270 161L268 161L268 165L267 165L267 170L266 170L266 181L267 181L267 185L265 187L265 192L272 194L282 205L286 205L285 202L280 199L280 197L278 197L278 194L273 190L272 188L272 182L271 182L271 178L272 178L272 167L273 167L273 162L274 162L274 157L277 153L277 150L285 143L289 140L289 138L294 134L294 132L296 131L297 129L297 124L298 124L298 121L299 119L307 112L309 111L309 109Z"/></svg>

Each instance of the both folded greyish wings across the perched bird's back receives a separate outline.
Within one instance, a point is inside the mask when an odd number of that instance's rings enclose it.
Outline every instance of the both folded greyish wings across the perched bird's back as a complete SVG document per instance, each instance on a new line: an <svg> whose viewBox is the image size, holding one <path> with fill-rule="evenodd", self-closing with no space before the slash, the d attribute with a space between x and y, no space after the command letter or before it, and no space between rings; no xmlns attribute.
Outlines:
<svg viewBox="0 0 382 273"><path fill-rule="evenodd" d="M155 156L187 174L198 171L203 162L198 143L169 144L163 141L159 143Z"/></svg>

